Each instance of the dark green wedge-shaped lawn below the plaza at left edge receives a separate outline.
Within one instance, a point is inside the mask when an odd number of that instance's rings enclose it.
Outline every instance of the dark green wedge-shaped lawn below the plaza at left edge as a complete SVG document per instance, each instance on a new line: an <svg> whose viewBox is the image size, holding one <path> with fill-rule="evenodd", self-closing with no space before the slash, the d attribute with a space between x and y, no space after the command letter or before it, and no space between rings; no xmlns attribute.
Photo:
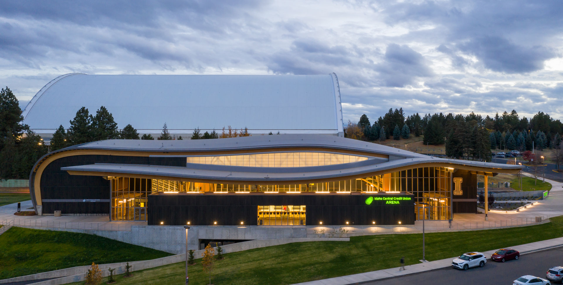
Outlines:
<svg viewBox="0 0 563 285"><path fill-rule="evenodd" d="M19 227L12 227L0 236L0 248L0 279L92 262L117 263L171 255L92 234Z"/></svg>

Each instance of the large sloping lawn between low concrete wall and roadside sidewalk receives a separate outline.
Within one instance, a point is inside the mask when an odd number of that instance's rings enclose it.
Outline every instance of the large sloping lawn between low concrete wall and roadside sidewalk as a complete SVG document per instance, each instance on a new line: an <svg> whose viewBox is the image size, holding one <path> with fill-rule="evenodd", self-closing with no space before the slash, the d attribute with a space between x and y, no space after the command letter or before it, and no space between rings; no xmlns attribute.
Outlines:
<svg viewBox="0 0 563 285"><path fill-rule="evenodd" d="M561 237L563 217L529 227L426 234L426 259L439 260L469 251L488 251ZM500 237L500 238L499 238ZM422 259L422 234L351 237L350 242L299 242L225 254L216 261L213 284L293 284L415 264ZM199 257L199 256L196 256ZM190 284L208 284L201 259L189 266ZM184 263L118 275L117 284L183 284ZM74 284L83 284L74 283Z"/></svg>

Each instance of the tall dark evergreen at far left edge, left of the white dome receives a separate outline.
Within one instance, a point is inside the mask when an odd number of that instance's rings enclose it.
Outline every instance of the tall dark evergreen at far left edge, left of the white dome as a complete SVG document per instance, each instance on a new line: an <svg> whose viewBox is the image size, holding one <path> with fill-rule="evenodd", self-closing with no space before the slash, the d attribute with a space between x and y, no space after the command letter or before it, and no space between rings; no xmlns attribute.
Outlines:
<svg viewBox="0 0 563 285"><path fill-rule="evenodd" d="M24 117L20 115L20 102L10 88L2 88L0 91L0 150L3 148L3 140L8 137L14 138L14 142L24 133L25 126L20 122Z"/></svg>

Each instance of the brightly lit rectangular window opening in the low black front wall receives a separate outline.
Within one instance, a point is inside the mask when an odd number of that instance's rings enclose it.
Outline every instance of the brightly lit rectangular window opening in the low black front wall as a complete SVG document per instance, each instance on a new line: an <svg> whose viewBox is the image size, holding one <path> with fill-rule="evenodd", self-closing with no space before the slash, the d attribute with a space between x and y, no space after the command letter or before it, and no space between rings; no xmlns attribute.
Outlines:
<svg viewBox="0 0 563 285"><path fill-rule="evenodd" d="M258 225L305 225L305 205L258 206Z"/></svg>

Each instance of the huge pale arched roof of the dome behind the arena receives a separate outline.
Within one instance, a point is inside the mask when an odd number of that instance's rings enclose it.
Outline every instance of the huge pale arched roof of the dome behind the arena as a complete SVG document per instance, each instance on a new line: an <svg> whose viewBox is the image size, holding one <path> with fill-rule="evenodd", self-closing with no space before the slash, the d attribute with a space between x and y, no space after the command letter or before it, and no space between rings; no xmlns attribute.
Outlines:
<svg viewBox="0 0 563 285"><path fill-rule="evenodd" d="M108 108L119 128L139 133L221 132L343 135L336 74L87 75L66 74L45 85L25 107L24 124L49 134L69 127L82 106Z"/></svg>

